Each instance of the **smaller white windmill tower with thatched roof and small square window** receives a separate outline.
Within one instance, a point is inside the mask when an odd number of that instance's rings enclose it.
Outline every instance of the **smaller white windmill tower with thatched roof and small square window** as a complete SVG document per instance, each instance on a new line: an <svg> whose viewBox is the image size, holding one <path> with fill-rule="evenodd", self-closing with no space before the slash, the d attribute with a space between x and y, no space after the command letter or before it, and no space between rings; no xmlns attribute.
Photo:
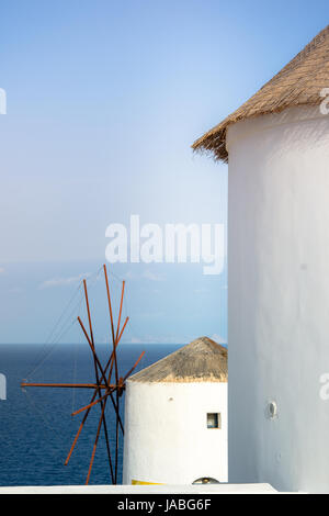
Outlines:
<svg viewBox="0 0 329 516"><path fill-rule="evenodd" d="M227 482L227 350L202 337L126 383L123 483Z"/></svg>

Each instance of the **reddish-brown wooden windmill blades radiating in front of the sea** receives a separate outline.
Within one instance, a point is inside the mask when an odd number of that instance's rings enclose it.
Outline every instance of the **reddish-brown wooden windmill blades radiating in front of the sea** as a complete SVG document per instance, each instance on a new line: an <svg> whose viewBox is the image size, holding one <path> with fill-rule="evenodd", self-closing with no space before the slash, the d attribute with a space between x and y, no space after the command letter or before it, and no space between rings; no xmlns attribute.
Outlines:
<svg viewBox="0 0 329 516"><path fill-rule="evenodd" d="M98 356L97 349L95 349L95 343L94 343L94 336L93 336L93 328L92 328L92 319L91 319L91 311L90 311L90 303L89 303L89 296L88 296L88 289L87 289L87 281L83 280L83 288L84 288L84 299L86 299L86 309L87 309L87 316L88 316L88 325L89 325L89 332L86 328L82 319L80 316L78 316L78 322L80 324L80 327L84 334L84 337L87 339L87 343L89 345L89 348L92 354L92 359L93 359L93 369L94 369L94 375L95 375L95 381L94 382L86 382L86 383L36 383L36 382L27 382L24 381L21 383L22 388L27 388L27 386L34 386L34 388L54 388L54 389L90 389L93 391L91 400L88 405L79 408L78 411L73 412L71 415L75 416L77 414L80 414L84 412L82 420L80 423L79 429L75 436L73 442L71 445L71 448L68 452L68 456L66 458L65 464L68 464L71 455L76 448L76 445L78 442L79 436L83 429L83 426L87 422L87 418L90 414L90 411L95 406L100 405L100 418L98 423L98 428L97 428L97 434L95 434L95 439L92 448L92 453L91 453L91 459L89 463L89 470L87 474L87 480L86 484L89 483L91 471L92 471L92 465L95 457L95 451L97 447L99 444L100 435L101 435L101 429L103 427L104 430L104 438L106 442L106 451L107 451L107 461L109 461L109 468L110 468L110 475L113 484L117 483L117 472L118 472L118 446L120 446L120 431L122 435L124 435L124 426L123 422L120 415L120 400L121 396L125 390L125 382L127 378L132 374L132 372L135 370L139 361L141 360L144 352L139 356L137 361L134 363L134 366L129 369L129 371L124 375L120 377L118 373L118 361L117 361L117 346L121 341L121 338L123 336L123 333L126 328L126 325L128 323L128 317L125 318L124 324L121 326L121 321L122 321L122 311L123 311L123 300L124 300L124 293L125 293L125 281L122 283L122 292L121 292L121 301L120 301L120 310L118 310L118 317L117 317L117 323L116 326L114 324L113 319L113 310L112 310L112 300L111 300L111 293L110 293L110 283L109 283L109 278L107 278L107 271L106 271L106 266L103 266L104 269L104 278L105 278L105 285L106 285L106 294L107 294L107 303L109 303L109 312L110 312L110 325L111 325L111 337L112 337L112 350L110 348L110 356L105 362L105 366L102 366L101 360ZM112 374L114 370L114 379L112 380ZM115 412L115 429L113 428L113 433L115 433L115 449L114 453L111 450L111 442L110 442L110 437L109 437L109 426L106 422L106 406L107 406L107 401L111 401L112 407ZM113 425L114 427L114 425ZM114 459L113 459L114 458Z"/></svg>

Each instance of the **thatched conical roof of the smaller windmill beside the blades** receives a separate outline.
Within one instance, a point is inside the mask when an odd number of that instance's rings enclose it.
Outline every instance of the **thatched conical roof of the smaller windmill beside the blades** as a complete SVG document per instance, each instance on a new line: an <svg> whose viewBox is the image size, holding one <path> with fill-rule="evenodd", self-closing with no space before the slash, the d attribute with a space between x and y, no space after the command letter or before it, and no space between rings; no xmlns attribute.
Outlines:
<svg viewBox="0 0 329 516"><path fill-rule="evenodd" d="M129 378L133 382L227 382L227 349L200 337Z"/></svg>

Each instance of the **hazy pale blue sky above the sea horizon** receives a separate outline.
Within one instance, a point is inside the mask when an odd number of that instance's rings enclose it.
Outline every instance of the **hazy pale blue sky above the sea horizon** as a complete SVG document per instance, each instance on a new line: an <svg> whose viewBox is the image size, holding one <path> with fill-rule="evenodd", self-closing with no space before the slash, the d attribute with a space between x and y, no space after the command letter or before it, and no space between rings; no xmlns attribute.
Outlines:
<svg viewBox="0 0 329 516"><path fill-rule="evenodd" d="M44 341L80 276L104 261L110 223L226 224L227 167L190 145L328 14L325 1L1 2L0 343ZM226 270L113 272L127 278L126 341L226 339Z"/></svg>

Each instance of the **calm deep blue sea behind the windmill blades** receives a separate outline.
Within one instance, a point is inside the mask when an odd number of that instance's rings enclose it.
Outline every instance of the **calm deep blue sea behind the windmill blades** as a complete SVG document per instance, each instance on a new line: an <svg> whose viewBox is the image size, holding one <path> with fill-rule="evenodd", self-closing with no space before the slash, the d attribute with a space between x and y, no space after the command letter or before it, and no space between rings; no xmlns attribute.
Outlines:
<svg viewBox="0 0 329 516"><path fill-rule="evenodd" d="M174 345L123 345L118 350L120 374L124 375L146 351L136 370L173 352ZM106 361L109 348L99 345ZM36 368L36 369L35 369ZM34 370L35 369L35 370ZM33 371L34 370L34 371ZM33 371L33 372L32 372ZM7 400L0 400L0 485L83 484L100 417L100 405L92 408L68 465L64 465L83 414L75 410L89 403L89 390L29 388L20 383L93 382L93 362L84 345L0 345L0 373L7 377ZM121 399L124 417L124 395ZM107 403L106 419L114 446L114 412ZM112 427L112 430L111 430ZM114 450L114 448L112 448ZM123 438L120 441L118 482L122 481ZM103 431L95 453L90 484L109 484L111 476Z"/></svg>

